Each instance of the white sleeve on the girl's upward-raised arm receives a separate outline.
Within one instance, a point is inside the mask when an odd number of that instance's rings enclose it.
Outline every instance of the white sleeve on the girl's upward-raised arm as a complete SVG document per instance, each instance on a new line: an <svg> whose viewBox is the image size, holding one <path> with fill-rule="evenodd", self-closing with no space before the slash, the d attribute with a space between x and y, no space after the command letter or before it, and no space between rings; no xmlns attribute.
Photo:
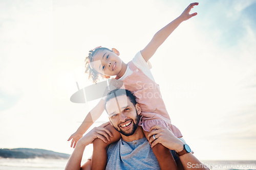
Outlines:
<svg viewBox="0 0 256 170"><path fill-rule="evenodd" d="M150 71L152 68L152 65L150 61L145 61L144 58L142 57L140 51L135 55L133 58L132 62L151 80L154 80L154 77Z"/></svg>

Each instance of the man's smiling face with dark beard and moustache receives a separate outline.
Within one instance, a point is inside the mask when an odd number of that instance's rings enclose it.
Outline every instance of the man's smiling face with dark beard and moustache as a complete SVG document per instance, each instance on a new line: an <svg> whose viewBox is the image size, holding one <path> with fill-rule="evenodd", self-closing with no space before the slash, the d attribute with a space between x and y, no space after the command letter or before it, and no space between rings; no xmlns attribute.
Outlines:
<svg viewBox="0 0 256 170"><path fill-rule="evenodd" d="M140 116L139 104L134 104L126 95L120 95L106 102L106 111L109 114L113 127L125 136L133 135L136 131Z"/></svg>

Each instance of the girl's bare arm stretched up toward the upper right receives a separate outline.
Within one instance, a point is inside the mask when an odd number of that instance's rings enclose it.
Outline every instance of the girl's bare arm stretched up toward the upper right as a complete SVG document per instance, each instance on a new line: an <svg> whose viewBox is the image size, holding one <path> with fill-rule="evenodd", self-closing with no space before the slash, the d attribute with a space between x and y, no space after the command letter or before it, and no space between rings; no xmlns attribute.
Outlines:
<svg viewBox="0 0 256 170"><path fill-rule="evenodd" d="M141 55L146 62L155 54L157 48L166 40L170 34L172 34L172 32L180 25L181 22L197 15L197 13L189 14L190 10L194 8L195 5L198 5L198 3L190 4L178 18L168 23L167 26L159 30L154 35L150 43L148 43L146 47L141 51Z"/></svg>

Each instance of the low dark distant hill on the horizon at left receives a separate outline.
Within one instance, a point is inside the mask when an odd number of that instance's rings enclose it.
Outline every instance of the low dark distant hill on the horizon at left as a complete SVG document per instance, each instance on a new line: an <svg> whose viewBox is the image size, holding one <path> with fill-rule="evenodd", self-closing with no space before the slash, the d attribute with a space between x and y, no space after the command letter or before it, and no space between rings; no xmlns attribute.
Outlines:
<svg viewBox="0 0 256 170"><path fill-rule="evenodd" d="M0 158L46 158L46 159L68 159L69 154L63 154L42 149L16 148L0 149Z"/></svg>

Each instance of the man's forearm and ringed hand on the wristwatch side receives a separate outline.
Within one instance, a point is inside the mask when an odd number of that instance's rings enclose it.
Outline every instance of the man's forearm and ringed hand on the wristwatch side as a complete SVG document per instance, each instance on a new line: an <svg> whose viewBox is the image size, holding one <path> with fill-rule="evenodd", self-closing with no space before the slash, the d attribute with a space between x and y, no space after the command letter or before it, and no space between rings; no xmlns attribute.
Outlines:
<svg viewBox="0 0 256 170"><path fill-rule="evenodd" d="M155 135L156 139L153 138L153 135ZM184 143L180 139L174 136L174 134L168 129L159 125L155 125L151 128L151 132L148 134L148 137L150 138L149 142L151 144L151 147L154 147L157 143L161 143L166 148L170 150L175 150L177 153L182 151L184 148ZM185 170L209 169L191 153L184 154L179 158ZM178 167L178 169L180 169L180 166Z"/></svg>

